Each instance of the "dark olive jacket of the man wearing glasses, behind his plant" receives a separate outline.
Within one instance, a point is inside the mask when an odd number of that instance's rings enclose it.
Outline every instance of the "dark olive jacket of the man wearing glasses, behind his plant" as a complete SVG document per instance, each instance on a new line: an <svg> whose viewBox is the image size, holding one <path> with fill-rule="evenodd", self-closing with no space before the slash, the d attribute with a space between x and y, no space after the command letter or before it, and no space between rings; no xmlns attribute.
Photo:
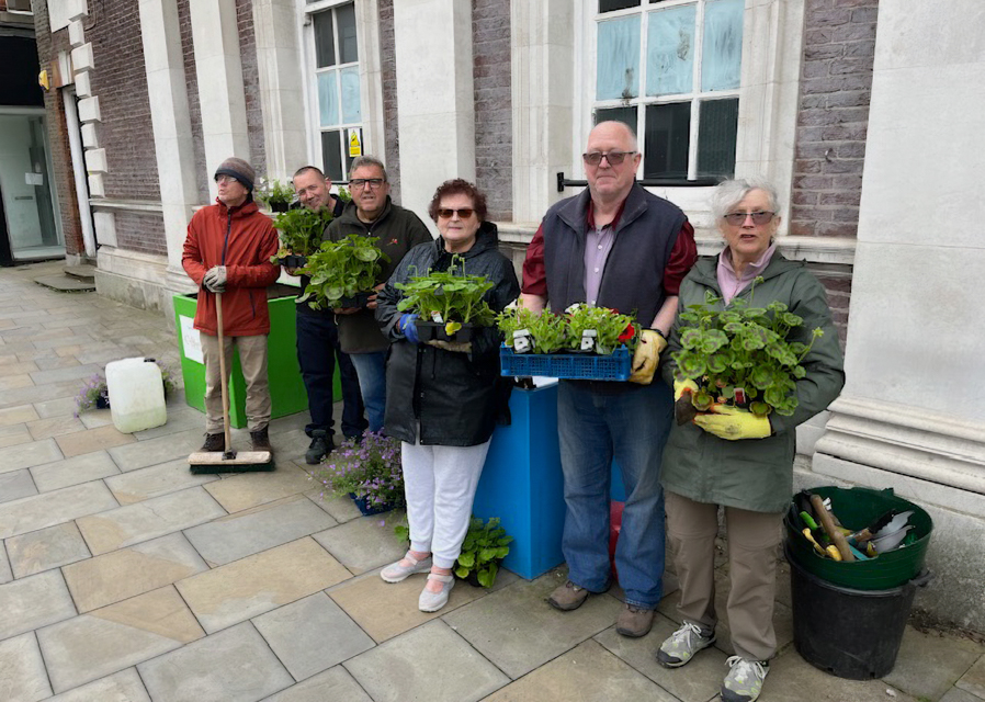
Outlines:
<svg viewBox="0 0 985 702"><path fill-rule="evenodd" d="M346 205L338 219L332 219L325 230L325 238L339 241L350 234L363 237L378 237L376 246L386 253L389 261L383 261L376 284L385 283L393 275L397 265L407 252L418 244L432 241L428 227L416 214L395 205L387 196L383 214L374 222L366 224L355 214L355 203ZM389 341L383 336L376 324L375 310L362 309L354 315L338 315L339 343L346 353L372 353L386 351Z"/></svg>

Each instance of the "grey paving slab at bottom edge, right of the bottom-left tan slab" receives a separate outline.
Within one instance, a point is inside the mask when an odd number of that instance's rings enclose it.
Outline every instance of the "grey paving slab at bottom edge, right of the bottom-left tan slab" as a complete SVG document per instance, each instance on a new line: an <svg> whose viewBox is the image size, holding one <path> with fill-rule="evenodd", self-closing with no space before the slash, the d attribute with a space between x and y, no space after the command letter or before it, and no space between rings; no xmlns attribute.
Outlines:
<svg viewBox="0 0 985 702"><path fill-rule="evenodd" d="M155 702L256 702L294 683L249 622L137 669Z"/></svg>

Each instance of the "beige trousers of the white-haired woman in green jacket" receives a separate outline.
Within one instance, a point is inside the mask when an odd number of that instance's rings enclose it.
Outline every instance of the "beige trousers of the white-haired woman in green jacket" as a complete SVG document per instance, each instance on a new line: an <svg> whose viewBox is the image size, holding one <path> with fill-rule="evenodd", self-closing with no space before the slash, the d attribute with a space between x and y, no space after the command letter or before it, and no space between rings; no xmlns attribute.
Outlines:
<svg viewBox="0 0 985 702"><path fill-rule="evenodd" d="M667 534L680 580L678 612L705 632L718 622L715 612L715 536L718 506L666 492ZM777 546L783 514L725 508L731 590L726 602L735 653L769 660L777 653L773 601Z"/></svg>

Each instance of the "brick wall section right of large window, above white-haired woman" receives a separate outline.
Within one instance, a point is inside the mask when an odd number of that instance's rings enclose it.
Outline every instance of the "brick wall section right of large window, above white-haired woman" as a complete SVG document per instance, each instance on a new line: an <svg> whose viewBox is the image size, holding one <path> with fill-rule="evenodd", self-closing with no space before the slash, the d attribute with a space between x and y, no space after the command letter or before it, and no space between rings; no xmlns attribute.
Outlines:
<svg viewBox="0 0 985 702"><path fill-rule="evenodd" d="M879 0L807 0L790 233L854 237Z"/></svg>

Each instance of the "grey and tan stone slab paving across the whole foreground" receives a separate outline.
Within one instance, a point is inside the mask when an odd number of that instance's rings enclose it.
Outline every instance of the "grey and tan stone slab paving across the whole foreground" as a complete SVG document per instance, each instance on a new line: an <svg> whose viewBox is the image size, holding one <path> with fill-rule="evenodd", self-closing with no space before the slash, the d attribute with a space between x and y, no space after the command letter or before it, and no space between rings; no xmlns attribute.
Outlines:
<svg viewBox="0 0 985 702"><path fill-rule="evenodd" d="M418 611L422 578L377 577L400 555L401 516L320 499L304 415L272 422L275 473L230 477L189 473L204 420L180 394L165 427L136 434L109 410L75 417L73 396L106 362L178 369L178 351L160 315L33 283L58 271L0 269L0 701L716 698L727 623L687 668L654 659L678 623L672 592L642 639L615 633L614 590L551 609L562 568L503 573L490 592L460 584L441 612ZM794 650L786 587L775 616L763 702L985 700L985 646L966 638L908 629L892 673L853 682Z"/></svg>

